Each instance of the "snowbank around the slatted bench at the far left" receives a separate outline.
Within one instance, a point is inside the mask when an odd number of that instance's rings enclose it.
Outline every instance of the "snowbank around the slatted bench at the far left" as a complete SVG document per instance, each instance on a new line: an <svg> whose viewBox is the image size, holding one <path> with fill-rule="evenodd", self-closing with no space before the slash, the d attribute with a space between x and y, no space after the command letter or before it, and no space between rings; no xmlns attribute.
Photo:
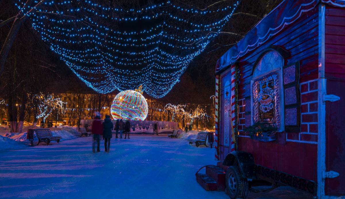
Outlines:
<svg viewBox="0 0 345 199"><path fill-rule="evenodd" d="M21 133L11 133L8 126L0 126L0 151L9 149L18 149L26 146L31 146L27 138L28 129L37 129L39 127L24 126ZM53 136L61 136L62 140L74 139L80 137L80 132L73 127L50 128ZM37 143L36 136L33 138L33 143Z"/></svg>

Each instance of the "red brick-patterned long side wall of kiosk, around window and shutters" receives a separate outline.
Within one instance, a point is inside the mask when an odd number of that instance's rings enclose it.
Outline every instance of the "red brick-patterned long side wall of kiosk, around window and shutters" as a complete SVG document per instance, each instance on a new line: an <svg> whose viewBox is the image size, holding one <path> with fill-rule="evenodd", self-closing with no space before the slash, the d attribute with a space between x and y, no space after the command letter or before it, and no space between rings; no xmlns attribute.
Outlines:
<svg viewBox="0 0 345 199"><path fill-rule="evenodd" d="M252 79L254 62L262 51L271 45L290 52L291 56L285 59L285 65L296 61L300 63L302 132L280 132L276 141L261 142L245 137L247 134L241 130L249 126L245 122L245 112L250 110L250 107L246 107L250 106L250 100L245 100L248 89L246 84ZM318 7L304 13L278 35L242 57L238 64L241 74L238 97L238 150L252 153L256 164L317 181Z"/></svg>

